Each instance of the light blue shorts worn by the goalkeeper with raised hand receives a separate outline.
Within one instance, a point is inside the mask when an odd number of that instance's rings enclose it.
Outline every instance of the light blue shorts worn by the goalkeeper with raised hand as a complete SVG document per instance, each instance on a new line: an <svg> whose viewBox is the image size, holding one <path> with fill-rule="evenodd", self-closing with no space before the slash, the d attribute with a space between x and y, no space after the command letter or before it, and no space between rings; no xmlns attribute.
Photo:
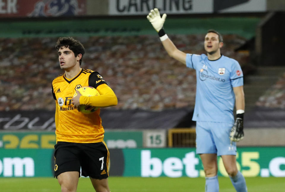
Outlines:
<svg viewBox="0 0 285 192"><path fill-rule="evenodd" d="M232 126L233 123L197 121L196 154L236 155L236 142L229 139Z"/></svg>

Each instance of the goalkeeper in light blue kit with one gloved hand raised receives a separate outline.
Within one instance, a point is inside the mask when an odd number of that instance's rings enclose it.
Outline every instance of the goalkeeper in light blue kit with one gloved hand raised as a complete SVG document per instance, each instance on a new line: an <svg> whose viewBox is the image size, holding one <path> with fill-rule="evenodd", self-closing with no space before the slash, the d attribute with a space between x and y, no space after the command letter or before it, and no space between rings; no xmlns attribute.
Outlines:
<svg viewBox="0 0 285 192"><path fill-rule="evenodd" d="M163 29L162 17L155 8L147 16L158 32L167 53L196 70L197 90L192 120L196 121L196 153L204 166L206 192L218 192L217 156L221 156L237 192L247 192L246 181L236 165L236 142L243 139L243 73L239 63L221 54L222 36L209 30L204 48L207 55L186 54L176 48ZM237 118L234 121L234 106Z"/></svg>

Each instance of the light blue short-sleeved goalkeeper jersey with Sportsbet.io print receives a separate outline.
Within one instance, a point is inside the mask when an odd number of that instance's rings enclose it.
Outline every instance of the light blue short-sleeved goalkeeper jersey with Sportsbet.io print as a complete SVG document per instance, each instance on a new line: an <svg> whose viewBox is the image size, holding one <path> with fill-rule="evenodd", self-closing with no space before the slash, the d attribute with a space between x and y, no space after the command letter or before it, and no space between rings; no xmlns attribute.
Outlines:
<svg viewBox="0 0 285 192"><path fill-rule="evenodd" d="M233 123L233 87L243 85L243 72L238 61L224 55L210 61L205 54L187 54L186 66L195 69L197 76L192 120Z"/></svg>

